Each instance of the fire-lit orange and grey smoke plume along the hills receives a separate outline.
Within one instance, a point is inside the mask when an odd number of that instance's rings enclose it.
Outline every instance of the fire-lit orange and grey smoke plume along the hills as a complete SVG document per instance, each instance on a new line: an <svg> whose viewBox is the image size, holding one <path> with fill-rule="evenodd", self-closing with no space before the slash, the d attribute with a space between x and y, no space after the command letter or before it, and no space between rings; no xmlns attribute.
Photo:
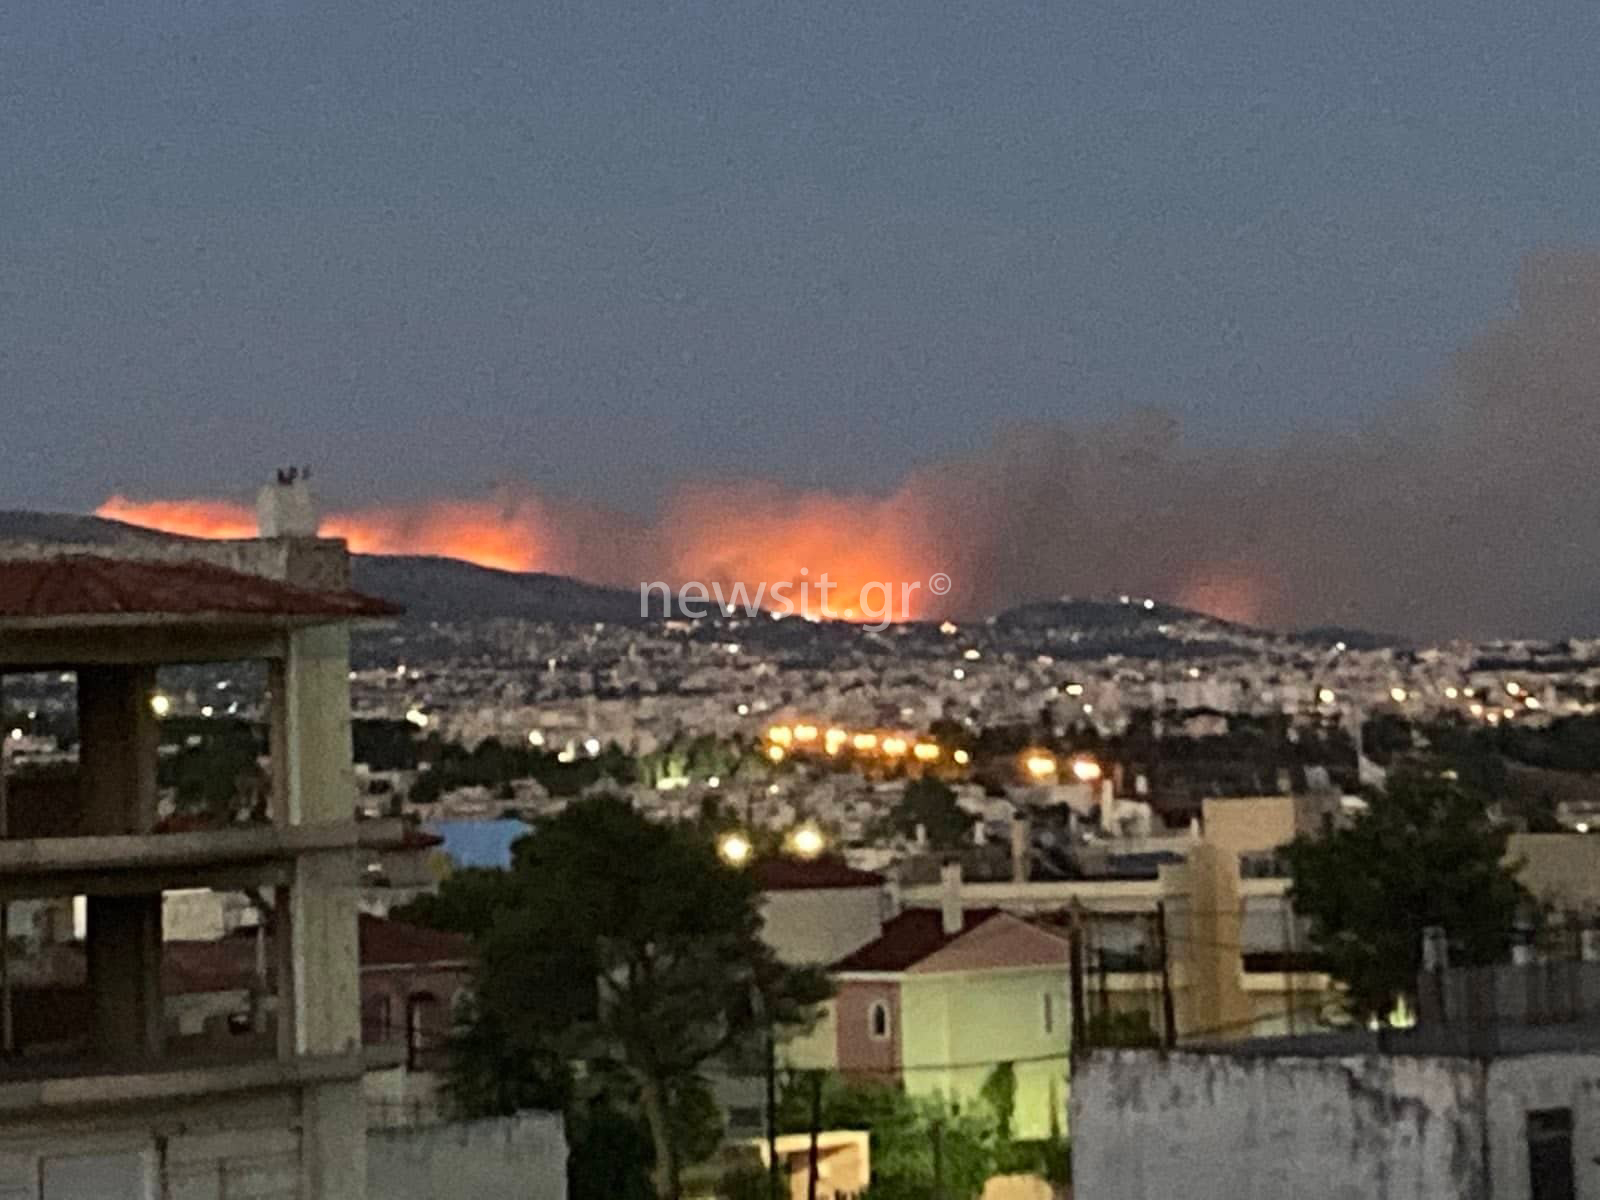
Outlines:
<svg viewBox="0 0 1600 1200"><path fill-rule="evenodd" d="M1600 594L1600 253L1531 256L1510 317L1426 395L1346 435L1195 450L1147 411L1011 429L888 494L704 480L651 520L504 490L336 512L357 552L442 554L637 587L922 582L906 616L1061 594L1155 595L1278 627L1421 638L1594 632ZM101 515L250 536L245 506L112 498ZM926 589L947 573L949 595Z"/></svg>

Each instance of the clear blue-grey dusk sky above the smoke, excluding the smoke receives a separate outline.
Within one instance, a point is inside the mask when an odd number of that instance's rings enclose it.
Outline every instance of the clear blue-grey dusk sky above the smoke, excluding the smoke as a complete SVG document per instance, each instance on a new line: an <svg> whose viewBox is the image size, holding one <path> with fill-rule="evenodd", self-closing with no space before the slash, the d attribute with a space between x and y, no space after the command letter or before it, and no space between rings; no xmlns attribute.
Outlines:
<svg viewBox="0 0 1600 1200"><path fill-rule="evenodd" d="M1597 26L6 5L0 507L243 499L312 462L334 507L514 488L648 526L725 480L893 504L1152 411L1200 470L1360 456L1454 419L1530 254L1600 245ZM1592 598L1262 611L1547 629Z"/></svg>

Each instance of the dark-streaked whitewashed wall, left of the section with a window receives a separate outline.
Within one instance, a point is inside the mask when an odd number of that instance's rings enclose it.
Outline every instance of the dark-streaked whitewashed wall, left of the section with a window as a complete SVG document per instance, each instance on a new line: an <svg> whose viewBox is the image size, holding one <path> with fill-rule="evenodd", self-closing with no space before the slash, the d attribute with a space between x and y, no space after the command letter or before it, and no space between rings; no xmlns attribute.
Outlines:
<svg viewBox="0 0 1600 1200"><path fill-rule="evenodd" d="M1072 1090L1074 1190L1080 1200L1485 1200L1480 1086L1469 1059L1096 1051ZM1499 1157L1496 1176L1520 1179L1526 1195L1525 1149L1512 1157L1507 1144Z"/></svg>

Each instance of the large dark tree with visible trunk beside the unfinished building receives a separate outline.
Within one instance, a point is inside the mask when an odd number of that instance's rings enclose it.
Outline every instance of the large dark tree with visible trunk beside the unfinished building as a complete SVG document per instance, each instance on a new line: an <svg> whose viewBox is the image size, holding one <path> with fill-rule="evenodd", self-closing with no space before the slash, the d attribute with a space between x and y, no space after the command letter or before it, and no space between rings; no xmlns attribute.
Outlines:
<svg viewBox="0 0 1600 1200"><path fill-rule="evenodd" d="M819 971L784 966L762 941L755 883L710 838L616 797L538 822L514 848L509 898L488 907L480 1019L525 1058L618 1080L669 1200L704 1133L704 1069L768 1022L806 1026L829 995Z"/></svg>

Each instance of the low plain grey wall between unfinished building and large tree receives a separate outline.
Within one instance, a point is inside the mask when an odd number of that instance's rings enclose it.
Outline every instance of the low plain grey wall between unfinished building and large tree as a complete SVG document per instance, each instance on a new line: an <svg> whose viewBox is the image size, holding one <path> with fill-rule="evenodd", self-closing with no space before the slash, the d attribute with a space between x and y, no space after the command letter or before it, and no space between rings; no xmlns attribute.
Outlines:
<svg viewBox="0 0 1600 1200"><path fill-rule="evenodd" d="M366 1146L370 1200L566 1200L555 1114L374 1130Z"/></svg>

